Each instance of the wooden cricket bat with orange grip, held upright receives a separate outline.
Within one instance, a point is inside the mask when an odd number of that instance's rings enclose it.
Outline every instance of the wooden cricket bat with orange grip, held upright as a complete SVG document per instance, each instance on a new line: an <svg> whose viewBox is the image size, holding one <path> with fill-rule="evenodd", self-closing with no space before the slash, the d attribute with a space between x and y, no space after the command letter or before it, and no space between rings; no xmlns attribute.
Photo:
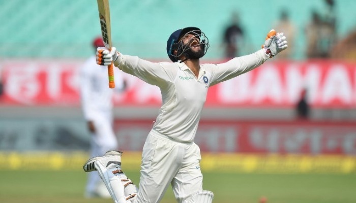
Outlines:
<svg viewBox="0 0 356 203"><path fill-rule="evenodd" d="M97 0L98 9L99 9L99 19L101 26L101 36L103 37L104 45L107 49L111 49L111 27L110 27L110 8L109 0ZM111 63L108 67L108 76L109 76L109 87L114 88L114 69L113 64Z"/></svg>

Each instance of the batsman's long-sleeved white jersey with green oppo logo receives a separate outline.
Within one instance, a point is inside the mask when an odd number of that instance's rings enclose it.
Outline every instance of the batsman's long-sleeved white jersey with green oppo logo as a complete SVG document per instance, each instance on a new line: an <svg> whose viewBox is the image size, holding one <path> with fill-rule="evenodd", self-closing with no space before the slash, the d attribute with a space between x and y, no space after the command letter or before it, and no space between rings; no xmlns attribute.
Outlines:
<svg viewBox="0 0 356 203"><path fill-rule="evenodd" d="M261 49L225 63L201 64L198 78L180 61L154 63L120 54L115 65L123 72L161 89L162 107L153 132L178 142L193 142L207 88L251 71L268 58L269 55Z"/></svg>

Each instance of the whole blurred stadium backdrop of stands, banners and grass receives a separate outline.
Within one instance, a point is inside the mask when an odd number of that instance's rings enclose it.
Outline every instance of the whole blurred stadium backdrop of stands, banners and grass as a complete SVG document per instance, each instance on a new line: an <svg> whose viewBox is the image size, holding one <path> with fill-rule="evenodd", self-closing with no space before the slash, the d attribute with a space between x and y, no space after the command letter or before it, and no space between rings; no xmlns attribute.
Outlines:
<svg viewBox="0 0 356 203"><path fill-rule="evenodd" d="M234 12L244 29L239 54L251 53L281 11L289 15L291 55L209 91L196 143L204 188L215 192L215 202L356 202L356 1L328 9L322 0L110 0L114 46L152 61L169 60L167 38L186 26L210 39L203 62L226 61L222 39ZM0 201L111 202L83 197L81 171L90 138L78 67L100 35L96 1L0 0L0 11ZM332 35L317 32L330 42L319 56L308 53L316 43L308 38L313 12L336 20ZM138 182L140 151L161 98L157 87L125 79L127 90L114 99L114 127L124 171ZM304 88L311 111L300 119ZM171 191L162 202L174 202Z"/></svg>

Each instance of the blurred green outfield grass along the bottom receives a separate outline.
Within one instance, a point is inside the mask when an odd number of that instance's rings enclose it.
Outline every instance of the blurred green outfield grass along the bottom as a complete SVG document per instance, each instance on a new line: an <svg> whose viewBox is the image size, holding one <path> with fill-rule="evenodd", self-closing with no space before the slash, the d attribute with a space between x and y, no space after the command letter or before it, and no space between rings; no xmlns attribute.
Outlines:
<svg viewBox="0 0 356 203"><path fill-rule="evenodd" d="M138 172L126 172L138 183ZM204 189L215 193L214 202L354 203L356 174L218 174L203 173ZM0 171L0 202L108 203L111 199L85 199L86 174L80 171ZM171 188L162 202L175 202Z"/></svg>

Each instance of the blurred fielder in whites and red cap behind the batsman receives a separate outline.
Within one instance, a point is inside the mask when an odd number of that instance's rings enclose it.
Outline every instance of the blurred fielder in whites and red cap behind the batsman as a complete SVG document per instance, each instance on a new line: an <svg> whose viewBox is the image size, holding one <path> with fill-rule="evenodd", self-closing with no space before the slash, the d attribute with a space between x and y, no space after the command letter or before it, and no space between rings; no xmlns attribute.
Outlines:
<svg viewBox="0 0 356 203"><path fill-rule="evenodd" d="M94 39L95 51L103 47L101 37ZM112 96L114 89L107 87L107 69L96 63L96 56L88 58L80 68L80 93L84 118L91 133L91 157L117 149L117 140L112 129ZM117 70L116 89L123 89L122 75ZM85 197L110 198L103 181L96 173L88 175Z"/></svg>

